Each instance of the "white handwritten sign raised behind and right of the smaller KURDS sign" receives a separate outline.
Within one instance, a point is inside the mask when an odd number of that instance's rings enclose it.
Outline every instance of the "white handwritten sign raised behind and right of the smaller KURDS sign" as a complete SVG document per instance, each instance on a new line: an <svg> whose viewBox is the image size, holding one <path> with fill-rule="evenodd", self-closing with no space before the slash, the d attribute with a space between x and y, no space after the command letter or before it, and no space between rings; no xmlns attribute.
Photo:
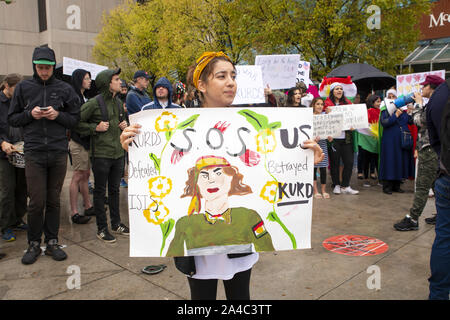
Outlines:
<svg viewBox="0 0 450 320"><path fill-rule="evenodd" d="M256 56L255 65L261 66L264 87L271 89L289 89L295 87L300 55Z"/></svg>

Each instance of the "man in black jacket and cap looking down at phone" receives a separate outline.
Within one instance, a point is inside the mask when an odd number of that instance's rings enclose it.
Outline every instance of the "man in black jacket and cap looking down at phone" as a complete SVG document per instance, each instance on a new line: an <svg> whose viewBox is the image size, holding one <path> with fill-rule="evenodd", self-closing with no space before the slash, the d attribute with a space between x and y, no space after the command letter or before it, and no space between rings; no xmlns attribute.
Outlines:
<svg viewBox="0 0 450 320"><path fill-rule="evenodd" d="M66 131L77 125L81 102L69 84L55 78L55 64L52 49L34 49L33 78L17 85L8 113L10 125L23 127L25 142L30 202L29 247L23 264L32 264L39 257L42 233L45 254L57 261L67 258L58 245L60 194L67 169Z"/></svg>

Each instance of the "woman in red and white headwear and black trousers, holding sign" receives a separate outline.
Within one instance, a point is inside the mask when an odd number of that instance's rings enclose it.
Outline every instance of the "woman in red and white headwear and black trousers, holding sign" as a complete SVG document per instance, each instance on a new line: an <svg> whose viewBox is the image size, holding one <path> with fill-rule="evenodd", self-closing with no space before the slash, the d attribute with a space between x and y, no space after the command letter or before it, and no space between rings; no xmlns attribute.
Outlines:
<svg viewBox="0 0 450 320"><path fill-rule="evenodd" d="M335 80L330 84L330 94L325 100L325 110L330 110L333 106L352 104L345 97L344 87L348 88L353 83L342 83L346 79ZM340 82L342 81L342 82ZM351 80L350 80L351 82ZM353 84L354 86L354 84ZM355 86L356 94L356 86ZM359 191L350 187L350 179L353 171L354 150L353 150L353 130L342 131L340 137L337 137L328 147L328 156L330 157L331 180L333 181L334 194L358 194ZM340 160L344 163L342 179L339 174Z"/></svg>

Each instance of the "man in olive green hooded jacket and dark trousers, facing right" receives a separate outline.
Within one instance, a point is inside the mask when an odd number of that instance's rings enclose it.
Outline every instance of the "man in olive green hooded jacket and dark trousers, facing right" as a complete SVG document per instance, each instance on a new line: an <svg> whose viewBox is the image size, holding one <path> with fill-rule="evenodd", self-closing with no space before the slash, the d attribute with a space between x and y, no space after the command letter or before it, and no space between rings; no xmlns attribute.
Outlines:
<svg viewBox="0 0 450 320"><path fill-rule="evenodd" d="M100 72L95 83L100 95L81 107L81 120L76 131L81 136L91 136L90 154L94 172L94 211L97 219L97 238L108 243L116 238L108 231L105 212L105 194L108 184L108 204L112 232L129 235L129 229L120 219L120 179L125 164L125 151L120 144L120 134L128 125L122 101L120 68ZM99 101L103 99L105 113ZM106 119L105 119L106 117Z"/></svg>

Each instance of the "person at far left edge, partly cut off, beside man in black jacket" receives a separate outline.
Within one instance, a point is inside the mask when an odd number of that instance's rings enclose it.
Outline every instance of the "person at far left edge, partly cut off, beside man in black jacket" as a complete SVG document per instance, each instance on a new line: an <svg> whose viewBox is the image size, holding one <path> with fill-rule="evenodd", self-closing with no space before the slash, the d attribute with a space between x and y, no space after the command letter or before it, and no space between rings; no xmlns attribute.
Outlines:
<svg viewBox="0 0 450 320"><path fill-rule="evenodd" d="M22 218L27 212L27 183L25 169L9 157L21 153L16 144L23 141L21 128L8 125L8 110L16 85L22 81L19 74L8 74L0 85L0 228L5 241L14 241L13 229L25 229Z"/></svg>

